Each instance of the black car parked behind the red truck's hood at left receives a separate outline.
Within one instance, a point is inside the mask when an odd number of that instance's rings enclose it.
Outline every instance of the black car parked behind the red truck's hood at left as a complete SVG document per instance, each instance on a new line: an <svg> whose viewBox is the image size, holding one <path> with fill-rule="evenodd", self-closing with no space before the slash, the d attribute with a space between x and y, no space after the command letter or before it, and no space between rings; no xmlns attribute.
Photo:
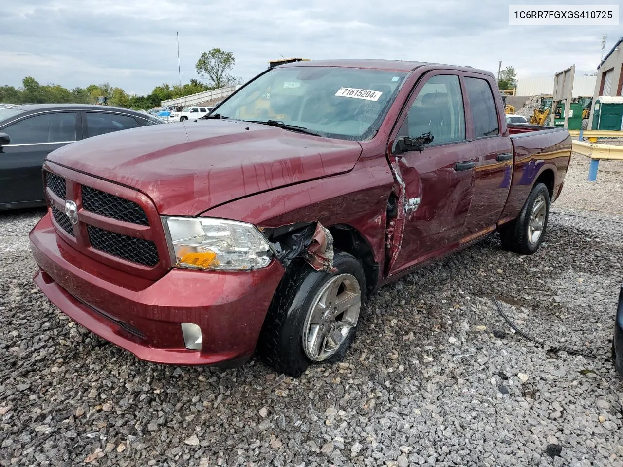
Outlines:
<svg viewBox="0 0 623 467"><path fill-rule="evenodd" d="M102 105L36 104L0 109L0 209L45 205L41 166L79 139L161 121Z"/></svg>

